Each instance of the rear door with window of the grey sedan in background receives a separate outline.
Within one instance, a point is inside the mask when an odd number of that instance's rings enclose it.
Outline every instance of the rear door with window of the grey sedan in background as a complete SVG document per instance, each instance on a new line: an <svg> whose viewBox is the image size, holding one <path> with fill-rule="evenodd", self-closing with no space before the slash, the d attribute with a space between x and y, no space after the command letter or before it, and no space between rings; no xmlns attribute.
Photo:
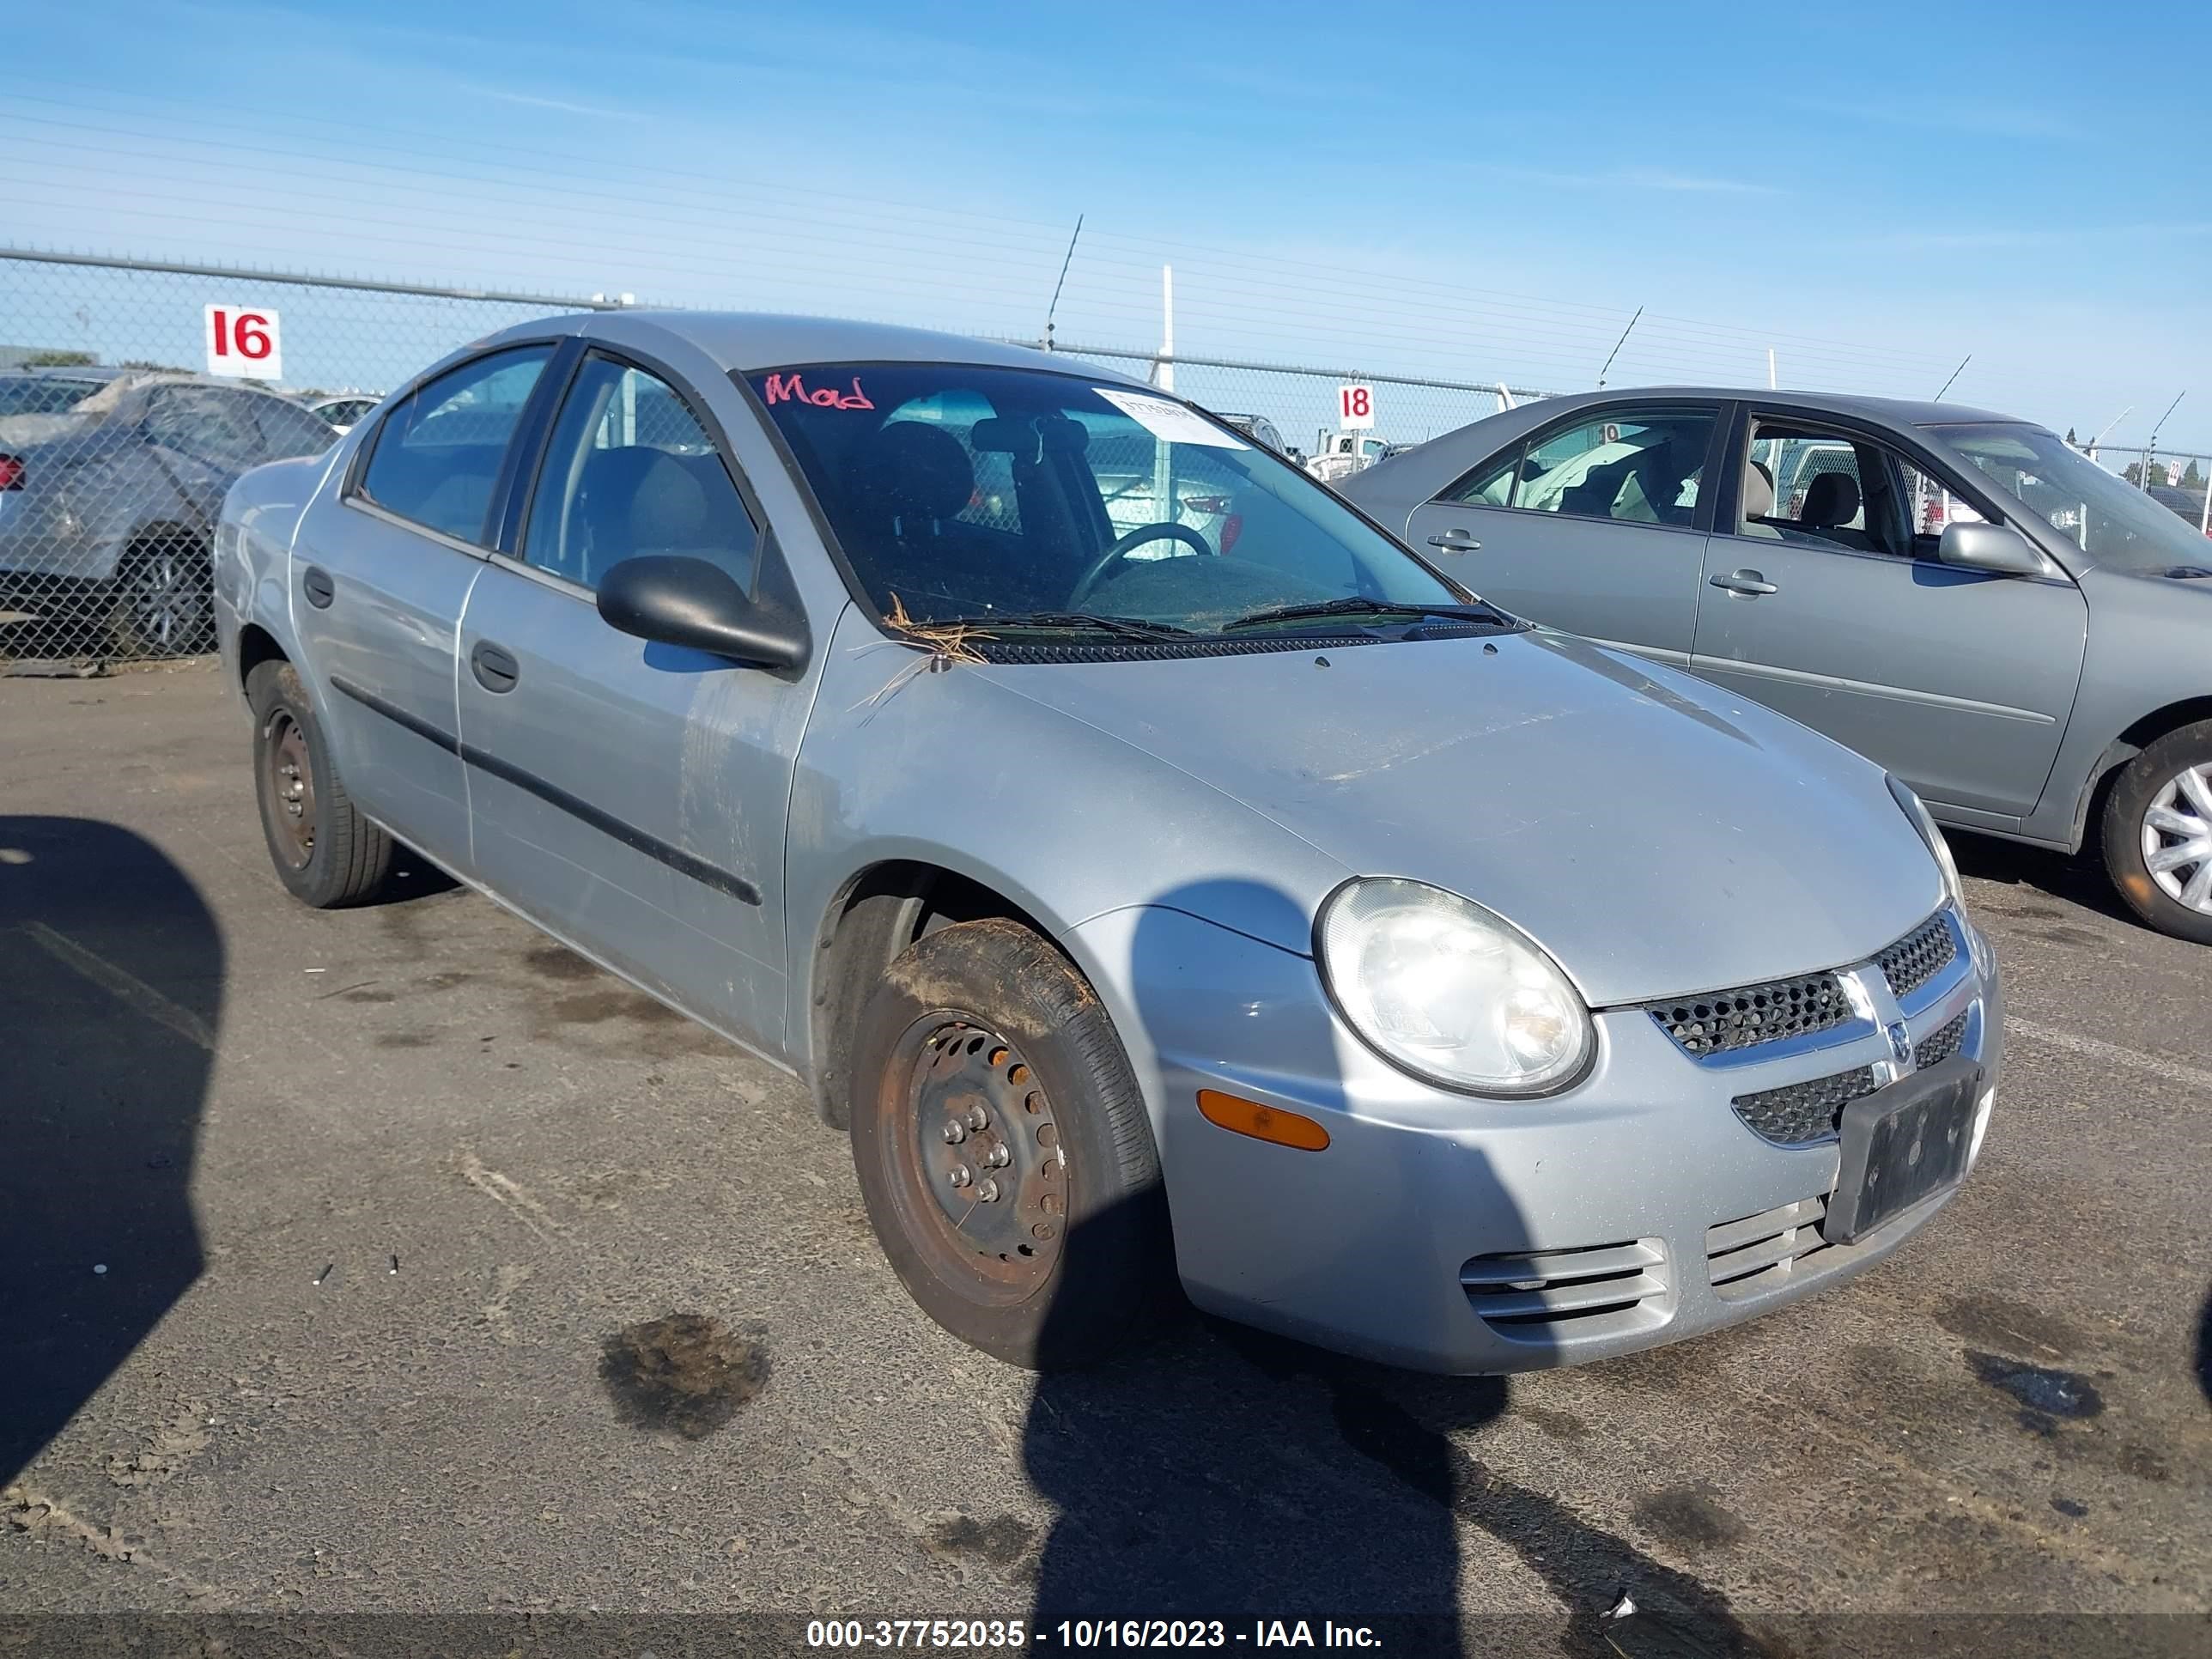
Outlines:
<svg viewBox="0 0 2212 1659"><path fill-rule="evenodd" d="M1723 403L1619 403L1540 427L1438 500L1409 540L1484 599L1688 666Z"/></svg>

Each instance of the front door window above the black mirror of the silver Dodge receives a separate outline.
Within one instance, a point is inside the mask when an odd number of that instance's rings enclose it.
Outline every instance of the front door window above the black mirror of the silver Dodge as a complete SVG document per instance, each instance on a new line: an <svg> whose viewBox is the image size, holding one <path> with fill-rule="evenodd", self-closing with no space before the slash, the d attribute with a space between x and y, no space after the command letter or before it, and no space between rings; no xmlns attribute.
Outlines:
<svg viewBox="0 0 2212 1659"><path fill-rule="evenodd" d="M714 440L659 376L591 354L531 495L522 557L586 588L639 553L708 560L752 591L759 533Z"/></svg>

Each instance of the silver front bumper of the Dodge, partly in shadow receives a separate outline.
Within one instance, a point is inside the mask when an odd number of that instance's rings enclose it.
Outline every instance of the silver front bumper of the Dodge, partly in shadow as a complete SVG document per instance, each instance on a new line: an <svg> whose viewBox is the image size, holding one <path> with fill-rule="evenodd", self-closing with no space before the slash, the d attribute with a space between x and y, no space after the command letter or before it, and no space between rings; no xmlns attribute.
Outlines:
<svg viewBox="0 0 2212 1659"><path fill-rule="evenodd" d="M1146 1088L1190 1298L1323 1347L1478 1374L1734 1325L1863 1272L1922 1228L1958 1188L1860 1243L1823 1243L1836 1141L1776 1146L1732 1099L1891 1064L1896 1018L1916 1042L1955 1035L1993 1093L2002 991L1986 947L1953 927L1944 971L1816 1037L1692 1060L1648 1013L1599 1013L1590 1075L1537 1102L1469 1099L1398 1073L1343 1026L1310 958L1194 916L1113 911L1066 942ZM1329 1146L1217 1128L1199 1088L1303 1113Z"/></svg>

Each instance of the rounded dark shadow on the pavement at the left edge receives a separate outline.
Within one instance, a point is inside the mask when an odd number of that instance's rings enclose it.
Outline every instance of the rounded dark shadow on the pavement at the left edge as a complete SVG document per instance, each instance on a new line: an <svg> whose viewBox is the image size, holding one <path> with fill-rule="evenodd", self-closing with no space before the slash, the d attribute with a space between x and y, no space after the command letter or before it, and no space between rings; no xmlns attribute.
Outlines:
<svg viewBox="0 0 2212 1659"><path fill-rule="evenodd" d="M0 1480L201 1270L190 1177L223 942L157 847L0 816Z"/></svg>

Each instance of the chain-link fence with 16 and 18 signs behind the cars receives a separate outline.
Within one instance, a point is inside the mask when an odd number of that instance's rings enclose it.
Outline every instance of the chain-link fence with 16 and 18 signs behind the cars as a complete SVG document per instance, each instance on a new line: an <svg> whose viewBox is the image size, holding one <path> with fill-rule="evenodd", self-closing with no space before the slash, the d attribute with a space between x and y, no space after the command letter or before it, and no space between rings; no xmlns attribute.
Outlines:
<svg viewBox="0 0 2212 1659"><path fill-rule="evenodd" d="M22 672L208 650L212 526L239 473L327 449L376 398L469 341L628 303L0 250L0 664ZM1057 349L1172 387L1323 478L1542 396ZM208 374L215 365L230 374ZM1371 425L1340 427L1347 385L1367 387L1356 414ZM655 411L622 418L648 427ZM1130 478L1141 491L1135 480L1148 473L1130 467Z"/></svg>

